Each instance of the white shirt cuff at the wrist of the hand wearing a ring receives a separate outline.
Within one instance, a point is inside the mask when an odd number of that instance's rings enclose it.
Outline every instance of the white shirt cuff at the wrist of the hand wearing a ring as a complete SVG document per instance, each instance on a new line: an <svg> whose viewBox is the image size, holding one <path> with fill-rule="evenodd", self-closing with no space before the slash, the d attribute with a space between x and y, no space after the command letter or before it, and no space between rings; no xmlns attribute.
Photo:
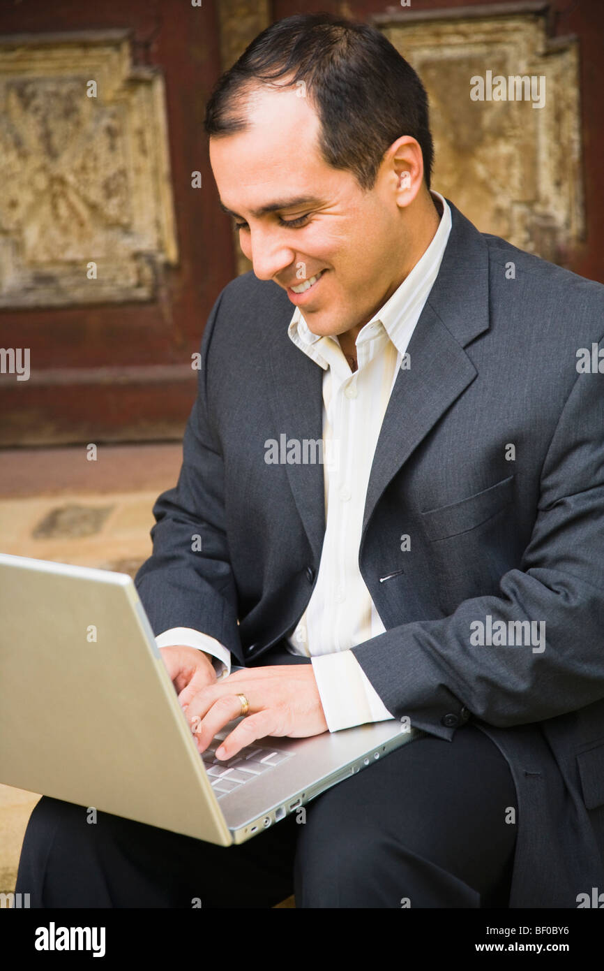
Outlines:
<svg viewBox="0 0 604 971"><path fill-rule="evenodd" d="M311 663L330 731L394 719L352 652L319 654Z"/></svg>

